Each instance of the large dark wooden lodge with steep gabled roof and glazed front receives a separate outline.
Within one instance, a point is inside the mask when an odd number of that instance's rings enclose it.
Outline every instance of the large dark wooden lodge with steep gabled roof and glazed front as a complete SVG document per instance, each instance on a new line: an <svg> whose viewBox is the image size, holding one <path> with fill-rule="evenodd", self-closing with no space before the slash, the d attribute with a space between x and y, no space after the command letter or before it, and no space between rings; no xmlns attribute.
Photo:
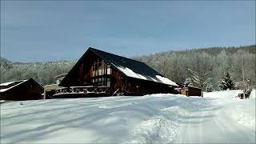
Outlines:
<svg viewBox="0 0 256 144"><path fill-rule="evenodd" d="M178 86L143 62L89 48L54 98L174 93Z"/></svg>

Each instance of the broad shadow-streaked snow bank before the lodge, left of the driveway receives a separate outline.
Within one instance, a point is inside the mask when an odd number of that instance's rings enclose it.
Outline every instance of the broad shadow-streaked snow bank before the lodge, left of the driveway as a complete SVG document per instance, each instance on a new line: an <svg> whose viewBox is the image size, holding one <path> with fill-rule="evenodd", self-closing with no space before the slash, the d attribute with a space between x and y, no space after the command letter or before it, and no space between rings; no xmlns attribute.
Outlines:
<svg viewBox="0 0 256 144"><path fill-rule="evenodd" d="M1 141L172 142L187 102L174 94L6 102Z"/></svg>

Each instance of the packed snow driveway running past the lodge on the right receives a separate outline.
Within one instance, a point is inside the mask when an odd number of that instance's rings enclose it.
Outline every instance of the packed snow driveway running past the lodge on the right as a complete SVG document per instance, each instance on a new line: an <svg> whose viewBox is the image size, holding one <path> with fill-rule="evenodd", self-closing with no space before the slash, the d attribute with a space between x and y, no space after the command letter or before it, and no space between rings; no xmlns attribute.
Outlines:
<svg viewBox="0 0 256 144"><path fill-rule="evenodd" d="M191 111L175 142L255 143L255 99L234 99L237 94L237 90L205 94L212 99L211 106ZM254 104L247 105L251 102Z"/></svg>

